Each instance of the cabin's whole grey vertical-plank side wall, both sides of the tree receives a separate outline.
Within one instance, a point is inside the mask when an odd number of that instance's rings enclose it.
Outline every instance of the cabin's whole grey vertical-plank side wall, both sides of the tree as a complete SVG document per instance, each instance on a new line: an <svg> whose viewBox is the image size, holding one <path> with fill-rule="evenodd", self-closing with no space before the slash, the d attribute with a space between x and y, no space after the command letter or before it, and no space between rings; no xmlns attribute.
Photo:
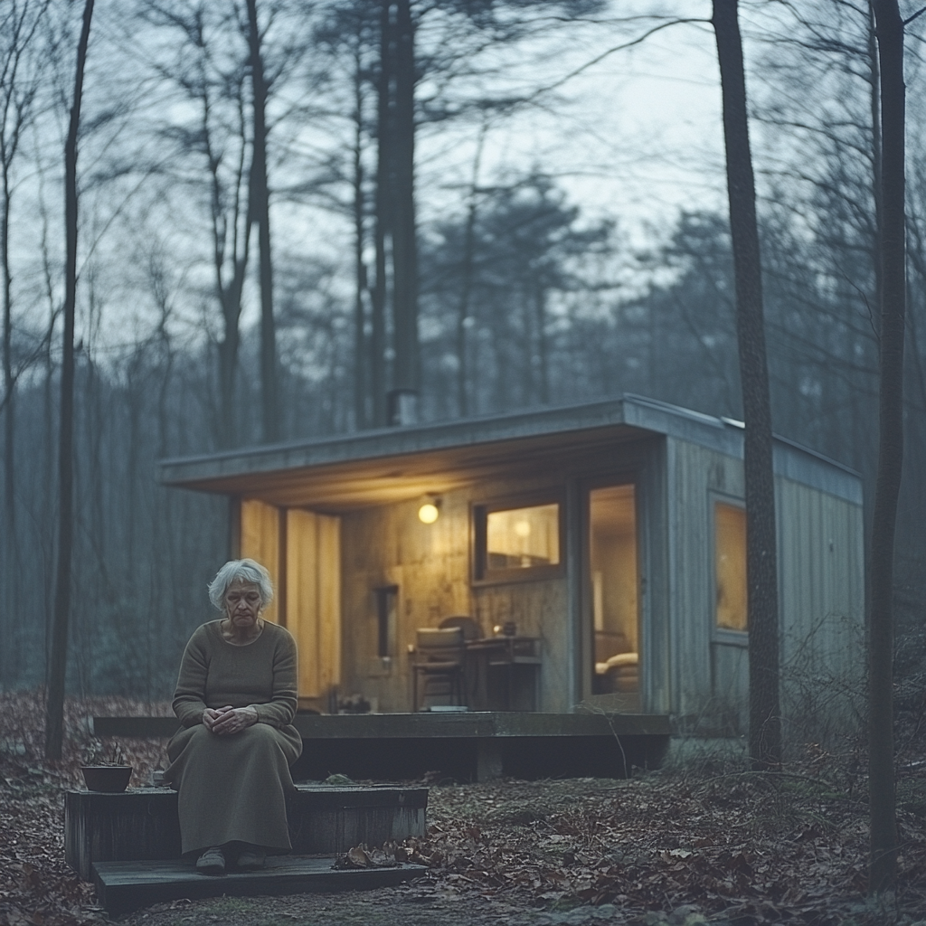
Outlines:
<svg viewBox="0 0 926 926"><path fill-rule="evenodd" d="M745 732L748 649L714 629L712 516L715 501L743 498L743 464L669 444L671 712L685 730ZM785 729L825 739L851 719L864 668L862 510L782 476L775 486Z"/></svg>

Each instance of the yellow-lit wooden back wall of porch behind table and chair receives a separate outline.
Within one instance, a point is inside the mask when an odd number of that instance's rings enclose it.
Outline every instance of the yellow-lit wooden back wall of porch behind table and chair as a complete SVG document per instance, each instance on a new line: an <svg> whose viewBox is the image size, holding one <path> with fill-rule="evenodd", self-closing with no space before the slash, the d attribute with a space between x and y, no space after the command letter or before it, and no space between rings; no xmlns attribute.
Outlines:
<svg viewBox="0 0 926 926"><path fill-rule="evenodd" d="M560 488L549 481L495 482L443 494L440 517L422 524L417 498L342 517L343 696L363 694L382 712L411 709L409 644L419 627L469 615L482 633L514 620L542 640L540 710L569 711L569 616L565 577L473 587L470 506L474 501ZM398 586L391 658L377 656L375 590Z"/></svg>

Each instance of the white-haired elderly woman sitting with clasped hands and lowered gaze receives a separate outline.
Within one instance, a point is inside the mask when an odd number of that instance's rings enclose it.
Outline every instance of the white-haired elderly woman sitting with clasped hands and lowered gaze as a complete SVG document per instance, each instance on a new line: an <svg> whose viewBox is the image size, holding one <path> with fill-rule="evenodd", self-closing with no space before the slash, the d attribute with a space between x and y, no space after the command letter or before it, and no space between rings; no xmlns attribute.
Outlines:
<svg viewBox="0 0 926 926"><path fill-rule="evenodd" d="M165 780L180 793L184 855L196 869L260 868L268 852L292 846L286 826L289 767L302 752L293 637L261 618L273 597L267 569L226 563L209 585L222 612L186 644L174 694L181 721L168 745Z"/></svg>

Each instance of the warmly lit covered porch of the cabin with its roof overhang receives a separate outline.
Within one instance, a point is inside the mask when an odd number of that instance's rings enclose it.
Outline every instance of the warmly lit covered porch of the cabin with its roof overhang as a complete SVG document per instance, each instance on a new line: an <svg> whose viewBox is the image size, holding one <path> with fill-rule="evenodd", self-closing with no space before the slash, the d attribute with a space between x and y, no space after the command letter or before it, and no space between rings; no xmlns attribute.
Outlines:
<svg viewBox="0 0 926 926"><path fill-rule="evenodd" d="M561 714L607 694L610 711L666 713L652 411L365 432L168 461L161 478L229 496L230 554L275 579L267 617L299 644L305 710Z"/></svg>

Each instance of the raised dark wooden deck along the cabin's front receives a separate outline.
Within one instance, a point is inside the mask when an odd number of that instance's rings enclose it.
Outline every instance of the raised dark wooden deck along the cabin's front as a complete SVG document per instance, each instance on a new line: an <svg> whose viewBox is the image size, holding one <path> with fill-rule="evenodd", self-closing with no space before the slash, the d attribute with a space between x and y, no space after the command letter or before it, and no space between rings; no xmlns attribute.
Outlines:
<svg viewBox="0 0 926 926"><path fill-rule="evenodd" d="M293 767L297 781L332 772L364 781L411 781L425 773L464 782L628 778L634 768L657 768L669 746L663 714L300 714L294 723L305 745ZM94 717L98 736L166 737L176 730L172 718Z"/></svg>

